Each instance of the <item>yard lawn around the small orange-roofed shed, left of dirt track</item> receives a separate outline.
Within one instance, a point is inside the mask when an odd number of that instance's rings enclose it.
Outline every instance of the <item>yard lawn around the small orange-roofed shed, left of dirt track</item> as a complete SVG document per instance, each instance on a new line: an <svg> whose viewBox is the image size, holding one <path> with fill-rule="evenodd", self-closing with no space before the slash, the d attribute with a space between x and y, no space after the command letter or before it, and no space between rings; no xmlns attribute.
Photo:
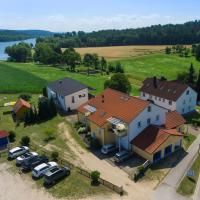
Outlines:
<svg viewBox="0 0 200 200"><path fill-rule="evenodd" d="M31 103L32 105L37 105L37 99L39 95L32 95ZM7 99L4 100L4 97ZM17 99L18 95L11 95L11 94L4 94L0 95L0 105L2 105L5 102L9 101L15 101ZM3 112L10 111L11 107L0 107L0 128L1 130L6 131L14 131L16 132L16 145L19 145L19 141L22 136L29 136L31 138L31 142L37 143L38 145L42 145L46 148L51 148L54 150L54 147L59 147L57 149L60 153L65 151L70 151L69 147L67 146L67 141L63 139L62 133L58 129L58 124L63 122L63 118L60 116L57 116L51 120L48 120L43 123L30 125L27 127L24 127L23 123L21 123L19 126L16 126L13 122L11 114L3 115ZM45 142L45 139L48 137L47 131L53 132L53 136L55 139L49 141L48 143ZM73 153L71 153L71 156L73 156Z"/></svg>

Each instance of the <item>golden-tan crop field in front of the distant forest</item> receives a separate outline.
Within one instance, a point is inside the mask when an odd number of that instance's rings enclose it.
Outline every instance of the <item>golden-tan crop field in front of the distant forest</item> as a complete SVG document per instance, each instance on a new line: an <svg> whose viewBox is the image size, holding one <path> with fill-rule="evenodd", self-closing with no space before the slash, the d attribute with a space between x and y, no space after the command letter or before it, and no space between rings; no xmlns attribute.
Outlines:
<svg viewBox="0 0 200 200"><path fill-rule="evenodd" d="M149 45L149 46L114 46L114 47L87 47L76 48L76 50L83 56L86 53L96 53L100 57L103 56L106 59L124 59L138 57L148 54L154 54L164 51L166 46L164 45Z"/></svg>

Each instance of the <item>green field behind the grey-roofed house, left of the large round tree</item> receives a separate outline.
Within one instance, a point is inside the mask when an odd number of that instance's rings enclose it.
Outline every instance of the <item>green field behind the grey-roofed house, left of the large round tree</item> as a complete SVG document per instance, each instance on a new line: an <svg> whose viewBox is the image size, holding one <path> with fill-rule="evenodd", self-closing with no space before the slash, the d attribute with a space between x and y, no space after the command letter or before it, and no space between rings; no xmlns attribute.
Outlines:
<svg viewBox="0 0 200 200"><path fill-rule="evenodd" d="M33 63L0 62L0 92L1 93L41 93L49 82L70 77L96 89L94 93L103 90L104 82L109 77L98 75L82 75L62 69L36 65Z"/></svg>

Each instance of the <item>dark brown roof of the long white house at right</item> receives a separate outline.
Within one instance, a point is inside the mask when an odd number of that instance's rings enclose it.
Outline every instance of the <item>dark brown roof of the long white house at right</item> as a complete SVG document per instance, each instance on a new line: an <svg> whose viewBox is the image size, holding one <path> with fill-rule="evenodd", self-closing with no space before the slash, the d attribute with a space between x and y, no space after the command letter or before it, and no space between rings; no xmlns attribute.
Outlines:
<svg viewBox="0 0 200 200"><path fill-rule="evenodd" d="M141 91L160 98L176 101L189 86L178 81L156 80L147 78L143 82Z"/></svg>

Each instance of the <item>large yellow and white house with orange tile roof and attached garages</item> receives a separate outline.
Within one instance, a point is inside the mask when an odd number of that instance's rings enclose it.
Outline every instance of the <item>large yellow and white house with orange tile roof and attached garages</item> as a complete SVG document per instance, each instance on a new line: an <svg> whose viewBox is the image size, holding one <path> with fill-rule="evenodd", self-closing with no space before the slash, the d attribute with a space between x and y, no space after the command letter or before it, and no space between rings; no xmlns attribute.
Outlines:
<svg viewBox="0 0 200 200"><path fill-rule="evenodd" d="M176 124L173 123L173 117L178 119ZM115 143L126 150L135 151L152 162L158 160L153 159L154 151L152 151L151 156L146 156L145 150L137 151L140 146L137 148L137 144L133 140L137 137L142 137L137 141L148 143L147 146L154 145L154 142L157 144L156 133L153 132L151 134L151 129L149 129L149 127L155 126L159 127L159 130L163 130L157 131L159 134L164 133L173 138L172 140L158 139L162 145L159 147L163 148L163 151L169 144L174 146L179 142L180 147L182 134L179 131L185 122L177 112L171 113L151 101L132 97L112 89L104 90L102 94L80 106L78 108L78 118L79 121L90 126L92 137L97 138L102 145ZM149 135L146 132L152 136L152 139L149 139ZM177 137L173 137L174 135ZM160 149L156 150L160 151Z"/></svg>

